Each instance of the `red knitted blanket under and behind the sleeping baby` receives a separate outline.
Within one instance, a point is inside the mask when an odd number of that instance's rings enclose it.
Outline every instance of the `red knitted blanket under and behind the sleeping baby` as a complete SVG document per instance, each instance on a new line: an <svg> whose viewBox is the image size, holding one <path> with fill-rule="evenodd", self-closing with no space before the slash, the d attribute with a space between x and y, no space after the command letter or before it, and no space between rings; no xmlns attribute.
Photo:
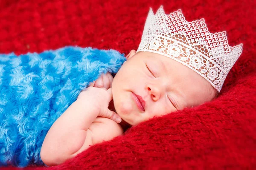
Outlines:
<svg viewBox="0 0 256 170"><path fill-rule="evenodd" d="M151 119L56 167L29 169L253 169L256 167L256 4L253 0L0 0L0 53L65 45L137 50L149 11L182 9L244 44L218 98ZM3 168L10 169L11 167Z"/></svg>

